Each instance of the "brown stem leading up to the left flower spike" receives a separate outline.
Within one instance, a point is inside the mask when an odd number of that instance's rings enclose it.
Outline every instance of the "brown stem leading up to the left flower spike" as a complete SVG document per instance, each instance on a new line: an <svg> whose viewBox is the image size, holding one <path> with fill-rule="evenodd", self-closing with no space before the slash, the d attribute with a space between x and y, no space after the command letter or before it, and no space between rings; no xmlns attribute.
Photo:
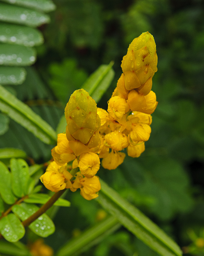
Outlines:
<svg viewBox="0 0 204 256"><path fill-rule="evenodd" d="M66 189L60 190L57 193L53 194L53 196L50 198L47 203L45 203L37 212L35 212L33 215L31 215L28 219L24 220L22 222L23 226L29 226L34 220L38 219L43 213L46 212L53 204L57 201L58 198L62 196Z"/></svg>

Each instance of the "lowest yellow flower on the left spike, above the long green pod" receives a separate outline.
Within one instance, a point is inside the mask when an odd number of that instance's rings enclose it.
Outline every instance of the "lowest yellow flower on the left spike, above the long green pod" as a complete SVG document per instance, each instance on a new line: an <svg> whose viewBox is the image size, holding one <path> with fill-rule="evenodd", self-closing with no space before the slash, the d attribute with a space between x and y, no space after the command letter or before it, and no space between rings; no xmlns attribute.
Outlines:
<svg viewBox="0 0 204 256"><path fill-rule="evenodd" d="M99 190L101 190L101 184L99 178L94 176L92 178L83 178L80 180L81 183L81 196L83 196L87 200L94 199L98 197L96 194Z"/></svg>

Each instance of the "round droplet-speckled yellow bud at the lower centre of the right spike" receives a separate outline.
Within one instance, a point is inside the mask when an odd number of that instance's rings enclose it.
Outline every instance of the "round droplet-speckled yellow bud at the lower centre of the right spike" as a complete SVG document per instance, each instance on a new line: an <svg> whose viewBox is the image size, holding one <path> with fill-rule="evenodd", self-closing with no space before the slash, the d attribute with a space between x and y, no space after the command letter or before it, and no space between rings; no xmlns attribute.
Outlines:
<svg viewBox="0 0 204 256"><path fill-rule="evenodd" d="M129 145L128 136L119 131L106 134L104 143L106 146L116 151L120 151Z"/></svg>

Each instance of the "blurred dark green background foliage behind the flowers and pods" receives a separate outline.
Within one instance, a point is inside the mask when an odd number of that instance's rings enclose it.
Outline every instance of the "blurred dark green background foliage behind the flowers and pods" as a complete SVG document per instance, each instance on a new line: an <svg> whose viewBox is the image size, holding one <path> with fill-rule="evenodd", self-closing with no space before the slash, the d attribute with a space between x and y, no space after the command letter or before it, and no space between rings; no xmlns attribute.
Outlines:
<svg viewBox="0 0 204 256"><path fill-rule="evenodd" d="M126 157L117 170L101 168L99 176L170 234L185 255L204 255L204 244L197 241L204 229L204 2L54 2L56 10L50 14L50 24L39 27L45 43L36 46L35 66L26 69L21 85L5 87L56 129L70 94L98 66L113 60L115 78L98 103L106 108L129 43L142 32L153 34L158 72L152 89L159 103L152 115L146 151L139 159ZM24 150L37 163L51 158L52 146L1 113L0 135L1 148ZM77 193L66 197L73 202L72 207L57 212L54 222L58 231L45 240L55 251L74 236L76 229L82 231L97 223L100 210L97 202L87 202ZM197 235L189 236L189 229ZM81 255L157 254L120 228Z"/></svg>

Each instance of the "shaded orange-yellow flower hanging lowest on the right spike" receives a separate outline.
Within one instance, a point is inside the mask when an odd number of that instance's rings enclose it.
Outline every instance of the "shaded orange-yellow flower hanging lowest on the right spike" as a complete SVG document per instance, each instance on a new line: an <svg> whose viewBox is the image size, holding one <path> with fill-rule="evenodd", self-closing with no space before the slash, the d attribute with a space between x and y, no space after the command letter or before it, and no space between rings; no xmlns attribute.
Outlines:
<svg viewBox="0 0 204 256"><path fill-rule="evenodd" d="M125 153L111 151L105 158L103 158L101 164L103 168L108 170L116 169L125 159Z"/></svg>

